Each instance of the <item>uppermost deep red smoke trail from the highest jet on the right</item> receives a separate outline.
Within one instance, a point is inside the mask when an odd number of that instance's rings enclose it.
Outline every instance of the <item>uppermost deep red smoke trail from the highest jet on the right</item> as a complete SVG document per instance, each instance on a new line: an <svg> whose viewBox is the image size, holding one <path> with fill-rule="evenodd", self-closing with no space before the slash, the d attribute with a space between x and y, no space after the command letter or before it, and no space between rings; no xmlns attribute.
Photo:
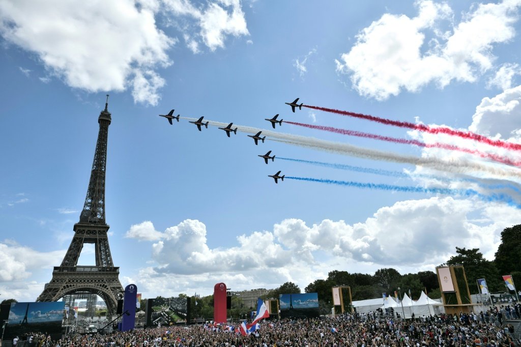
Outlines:
<svg viewBox="0 0 521 347"><path fill-rule="evenodd" d="M501 140L492 140L492 139L487 138L486 136L483 136L483 135L480 135L480 134L476 134L476 133L470 132L470 131L453 130L453 129L450 129L450 128L447 128L447 127L436 127L435 128L435 127L426 126L425 124L415 124L415 123L411 123L411 122L402 122L402 121L398 121L398 120L391 120L391 119L386 119L386 118L380 118L380 117L364 115L364 114L361 114L361 113L354 113L354 112L349 112L349 111L341 111L341 110L332 109L332 108L325 108L325 107L318 107L318 106L309 106L309 105L302 105L302 106L307 107L307 108L318 109L318 110L321 110L321 111L337 113L339 115L350 116L350 117L361 118L361 119L367 119L367 120L371 120L371 121L382 123L382 124L386 124L386 125L392 125L392 126L395 126L395 127L419 130L419 131L428 132L428 133L431 133L431 134L448 134L448 135L457 136L457 137L460 137L460 138L463 138L463 139L475 140L475 141L478 141L478 142L481 142L481 143L486 143L486 144L489 144L489 145L495 146L495 147L502 147L502 148L506 148L508 150L521 151L521 145L520 144L511 143L511 142L505 142L505 141L501 141Z"/></svg>

